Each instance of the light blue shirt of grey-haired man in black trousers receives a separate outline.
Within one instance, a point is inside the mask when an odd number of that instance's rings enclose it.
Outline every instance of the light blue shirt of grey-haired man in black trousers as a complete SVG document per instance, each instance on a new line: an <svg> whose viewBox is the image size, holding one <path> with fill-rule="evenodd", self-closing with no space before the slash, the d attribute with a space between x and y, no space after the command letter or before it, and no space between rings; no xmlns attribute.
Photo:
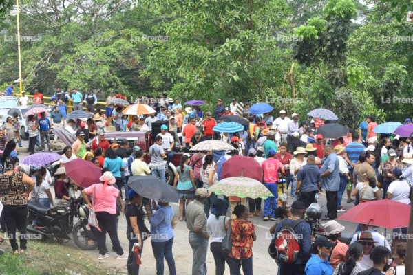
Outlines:
<svg viewBox="0 0 413 275"><path fill-rule="evenodd" d="M340 186L340 170L339 170L339 159L336 153L330 153L328 157L324 157L321 160L323 164L321 166L321 174L328 171L330 175L321 178L321 186L323 186L326 191L334 192L339 190Z"/></svg>

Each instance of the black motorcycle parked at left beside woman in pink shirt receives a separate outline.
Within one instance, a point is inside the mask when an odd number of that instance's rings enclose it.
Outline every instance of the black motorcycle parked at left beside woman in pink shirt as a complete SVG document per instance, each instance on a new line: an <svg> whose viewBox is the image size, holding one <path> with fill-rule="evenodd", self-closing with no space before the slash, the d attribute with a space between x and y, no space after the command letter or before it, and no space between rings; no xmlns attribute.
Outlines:
<svg viewBox="0 0 413 275"><path fill-rule="evenodd" d="M52 208L47 208L40 203L28 202L27 230L41 234L42 239L55 238L64 243L70 240L72 233L74 243L81 250L94 250L98 244L92 230L88 225L89 208L83 203L83 198L71 198L67 203L62 203ZM78 219L76 224L74 218Z"/></svg>

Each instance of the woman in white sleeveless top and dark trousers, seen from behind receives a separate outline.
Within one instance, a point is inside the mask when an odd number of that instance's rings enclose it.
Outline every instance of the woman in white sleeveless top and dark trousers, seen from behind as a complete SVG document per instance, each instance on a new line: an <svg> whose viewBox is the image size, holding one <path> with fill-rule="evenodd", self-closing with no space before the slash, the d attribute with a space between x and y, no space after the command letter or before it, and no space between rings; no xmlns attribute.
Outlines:
<svg viewBox="0 0 413 275"><path fill-rule="evenodd" d="M211 252L215 261L215 274L224 275L225 262L228 262L228 254L222 251L222 239L226 235L225 226L229 222L229 217L226 217L228 210L228 201L217 199L212 206L211 216L207 221L207 232L211 239Z"/></svg>

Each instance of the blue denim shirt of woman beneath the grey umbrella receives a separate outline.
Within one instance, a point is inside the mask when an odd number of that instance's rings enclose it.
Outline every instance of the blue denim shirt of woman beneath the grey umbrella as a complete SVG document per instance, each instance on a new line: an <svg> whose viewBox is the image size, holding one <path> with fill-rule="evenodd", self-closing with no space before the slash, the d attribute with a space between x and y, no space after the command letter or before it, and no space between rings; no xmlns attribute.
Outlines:
<svg viewBox="0 0 413 275"><path fill-rule="evenodd" d="M154 243L169 241L173 238L171 221L173 210L171 206L161 206L153 214L151 223L151 239Z"/></svg>

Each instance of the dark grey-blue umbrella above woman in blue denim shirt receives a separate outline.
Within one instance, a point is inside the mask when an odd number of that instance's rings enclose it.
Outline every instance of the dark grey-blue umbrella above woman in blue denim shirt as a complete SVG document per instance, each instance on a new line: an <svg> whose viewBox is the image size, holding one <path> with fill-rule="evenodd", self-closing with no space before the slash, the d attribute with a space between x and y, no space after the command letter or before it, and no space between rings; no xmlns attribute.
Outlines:
<svg viewBox="0 0 413 275"><path fill-rule="evenodd" d="M127 186L134 189L142 197L162 202L178 202L179 196L175 188L163 183L158 177L132 176L127 181Z"/></svg>

